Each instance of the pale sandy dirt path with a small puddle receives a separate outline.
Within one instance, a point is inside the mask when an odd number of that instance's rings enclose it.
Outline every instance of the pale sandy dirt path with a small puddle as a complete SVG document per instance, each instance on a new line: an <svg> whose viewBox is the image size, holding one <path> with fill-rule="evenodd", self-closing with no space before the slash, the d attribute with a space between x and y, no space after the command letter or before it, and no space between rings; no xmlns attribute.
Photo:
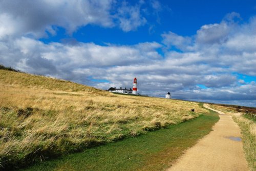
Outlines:
<svg viewBox="0 0 256 171"><path fill-rule="evenodd" d="M204 107L211 109L208 104ZM214 110L214 109L211 109ZM246 171L249 170L245 160L239 126L231 116L220 113L220 120L203 139L178 159L168 171Z"/></svg>

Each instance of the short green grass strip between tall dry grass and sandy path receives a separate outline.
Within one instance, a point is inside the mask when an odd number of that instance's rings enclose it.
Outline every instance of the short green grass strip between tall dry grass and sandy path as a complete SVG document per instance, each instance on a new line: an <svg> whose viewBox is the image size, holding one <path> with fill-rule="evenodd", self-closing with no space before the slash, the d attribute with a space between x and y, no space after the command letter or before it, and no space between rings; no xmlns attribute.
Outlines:
<svg viewBox="0 0 256 171"><path fill-rule="evenodd" d="M163 170L207 135L219 117L214 112L166 129L126 138L21 170Z"/></svg>

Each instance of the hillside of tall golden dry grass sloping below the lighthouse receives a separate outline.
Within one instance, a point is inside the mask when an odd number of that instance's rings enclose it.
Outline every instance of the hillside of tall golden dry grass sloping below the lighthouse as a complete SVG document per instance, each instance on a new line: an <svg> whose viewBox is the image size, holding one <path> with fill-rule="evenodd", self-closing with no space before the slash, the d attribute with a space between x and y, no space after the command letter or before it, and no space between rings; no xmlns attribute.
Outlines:
<svg viewBox="0 0 256 171"><path fill-rule="evenodd" d="M4 169L137 136L208 112L196 102L113 94L2 69L0 87Z"/></svg>

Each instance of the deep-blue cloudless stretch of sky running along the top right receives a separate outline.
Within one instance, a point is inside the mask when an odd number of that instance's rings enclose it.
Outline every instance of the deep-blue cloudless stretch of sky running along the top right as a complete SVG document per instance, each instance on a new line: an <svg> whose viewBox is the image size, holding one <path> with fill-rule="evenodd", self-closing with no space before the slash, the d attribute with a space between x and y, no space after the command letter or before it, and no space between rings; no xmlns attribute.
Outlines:
<svg viewBox="0 0 256 171"><path fill-rule="evenodd" d="M126 1L131 5L138 4L138 1ZM153 2L153 1L152 1ZM150 3L142 6L148 9L146 14L147 23L136 28L135 31L124 32L119 28L104 28L97 25L80 27L72 35L66 33L64 28L59 27L56 36L42 38L44 42L58 41L65 38L75 38L81 42L94 42L114 44L136 44L140 42L161 41L161 34L172 31L182 36L193 36L201 26L221 22L223 17L231 12L237 12L246 22L255 15L256 3L253 0L230 1L159 1L161 9L154 14ZM152 27L152 30L151 30ZM122 37L120 39L120 37Z"/></svg>

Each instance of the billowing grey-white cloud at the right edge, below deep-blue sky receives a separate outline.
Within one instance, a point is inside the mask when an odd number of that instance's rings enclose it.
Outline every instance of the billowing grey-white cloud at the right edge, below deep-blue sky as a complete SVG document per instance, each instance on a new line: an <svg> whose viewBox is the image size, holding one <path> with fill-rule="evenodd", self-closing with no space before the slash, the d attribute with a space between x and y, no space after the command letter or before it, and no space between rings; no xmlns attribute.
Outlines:
<svg viewBox="0 0 256 171"><path fill-rule="evenodd" d="M204 63L210 67L227 68L226 71L255 76L255 17L242 24L237 23L233 19L235 17L240 18L240 15L228 14L220 23L202 26L197 34L191 37L179 36L172 32L162 34L163 43L184 51L176 55L178 58L192 54L192 63ZM185 58L185 61L189 62L189 58Z"/></svg>

